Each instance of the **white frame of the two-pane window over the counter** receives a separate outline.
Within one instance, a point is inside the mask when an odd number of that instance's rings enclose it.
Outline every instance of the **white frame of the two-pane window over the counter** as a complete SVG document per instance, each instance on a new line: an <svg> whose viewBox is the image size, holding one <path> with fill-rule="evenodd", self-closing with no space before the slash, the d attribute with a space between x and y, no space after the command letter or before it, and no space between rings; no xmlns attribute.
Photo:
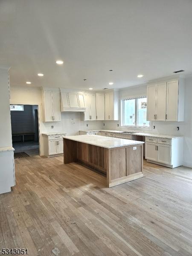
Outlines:
<svg viewBox="0 0 192 256"><path fill-rule="evenodd" d="M138 122L138 99L142 99L142 98L147 98L147 96L136 96L136 97L126 97L121 99L121 126L122 128L130 128L130 129L137 129L137 130L151 130L152 128L152 123L149 122L149 126L138 126L137 122ZM125 112L125 100L129 100L129 99L135 99L135 125L125 125L124 124L124 112Z"/></svg>

